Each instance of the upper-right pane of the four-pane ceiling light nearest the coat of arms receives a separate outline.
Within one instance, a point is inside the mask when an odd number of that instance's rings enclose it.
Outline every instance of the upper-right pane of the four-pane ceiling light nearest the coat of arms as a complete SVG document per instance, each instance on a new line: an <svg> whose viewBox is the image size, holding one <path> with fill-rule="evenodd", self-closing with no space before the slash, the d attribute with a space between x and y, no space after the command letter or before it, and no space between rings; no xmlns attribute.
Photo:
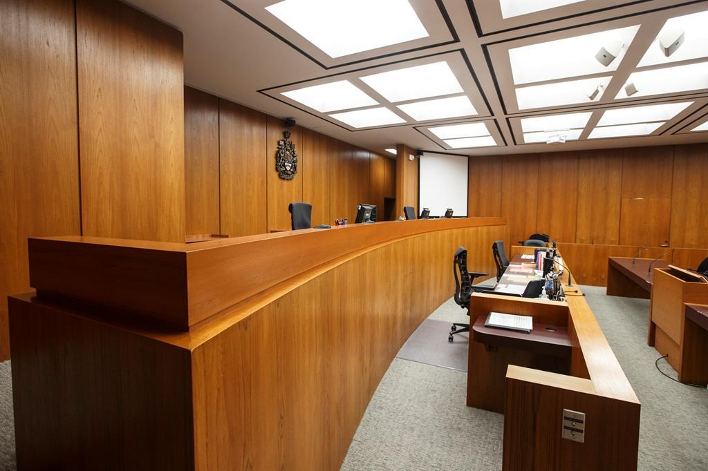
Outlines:
<svg viewBox="0 0 708 471"><path fill-rule="evenodd" d="M361 79L392 103L463 91L445 61L363 76Z"/></svg>

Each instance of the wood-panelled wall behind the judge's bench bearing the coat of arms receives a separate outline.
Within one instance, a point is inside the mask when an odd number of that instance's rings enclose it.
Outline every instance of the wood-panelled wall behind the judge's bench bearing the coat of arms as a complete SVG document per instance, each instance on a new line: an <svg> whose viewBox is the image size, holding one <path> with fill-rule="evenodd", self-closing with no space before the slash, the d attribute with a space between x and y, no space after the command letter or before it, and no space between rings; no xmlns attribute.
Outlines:
<svg viewBox="0 0 708 471"><path fill-rule="evenodd" d="M189 97L200 96L202 100ZM364 149L303 127L290 128L297 151L293 180L282 180L275 170L275 152L285 123L251 108L185 87L185 122L196 114L218 115L218 120L185 128L187 168L218 164L218 185L196 178L185 182L187 194L210 192L210 199L188 202L188 233L213 233L207 221L220 221L221 233L248 236L289 230L291 202L312 204L312 225L333 225L334 219L353 223L360 203L376 204L384 216L384 197L395 197L395 162ZM204 110L203 107L209 107ZM195 108L195 109L193 109ZM218 136L219 145L204 149L205 135ZM208 187L208 188L207 188ZM417 178L416 178L417 187ZM208 218L202 218L209 214Z"/></svg>

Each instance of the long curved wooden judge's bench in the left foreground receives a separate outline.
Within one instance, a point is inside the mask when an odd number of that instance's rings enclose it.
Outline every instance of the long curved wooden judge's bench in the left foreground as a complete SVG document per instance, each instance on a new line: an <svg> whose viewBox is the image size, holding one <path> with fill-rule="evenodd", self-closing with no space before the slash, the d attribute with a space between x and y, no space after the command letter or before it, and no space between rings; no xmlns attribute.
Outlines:
<svg viewBox="0 0 708 471"><path fill-rule="evenodd" d="M9 299L18 468L337 470L396 352L452 296L452 254L491 272L506 238L506 220L470 218L30 239L37 294Z"/></svg>

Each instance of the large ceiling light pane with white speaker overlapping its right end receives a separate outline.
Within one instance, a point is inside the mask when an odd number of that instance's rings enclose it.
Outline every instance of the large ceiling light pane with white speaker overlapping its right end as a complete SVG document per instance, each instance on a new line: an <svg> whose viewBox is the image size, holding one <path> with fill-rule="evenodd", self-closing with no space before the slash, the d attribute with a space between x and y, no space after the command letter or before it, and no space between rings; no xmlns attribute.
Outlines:
<svg viewBox="0 0 708 471"><path fill-rule="evenodd" d="M637 30L639 25L510 49L514 83L519 85L617 70ZM595 59L595 54L600 47L617 41L624 44L619 57L603 66Z"/></svg>

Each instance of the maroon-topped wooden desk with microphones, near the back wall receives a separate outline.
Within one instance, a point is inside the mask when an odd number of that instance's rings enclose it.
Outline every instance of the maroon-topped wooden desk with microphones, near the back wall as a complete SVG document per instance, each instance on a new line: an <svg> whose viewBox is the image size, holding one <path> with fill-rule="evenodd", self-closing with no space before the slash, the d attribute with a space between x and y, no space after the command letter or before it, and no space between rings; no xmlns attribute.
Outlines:
<svg viewBox="0 0 708 471"><path fill-rule="evenodd" d="M654 270L668 265L661 259L607 257L607 296L649 299Z"/></svg>

